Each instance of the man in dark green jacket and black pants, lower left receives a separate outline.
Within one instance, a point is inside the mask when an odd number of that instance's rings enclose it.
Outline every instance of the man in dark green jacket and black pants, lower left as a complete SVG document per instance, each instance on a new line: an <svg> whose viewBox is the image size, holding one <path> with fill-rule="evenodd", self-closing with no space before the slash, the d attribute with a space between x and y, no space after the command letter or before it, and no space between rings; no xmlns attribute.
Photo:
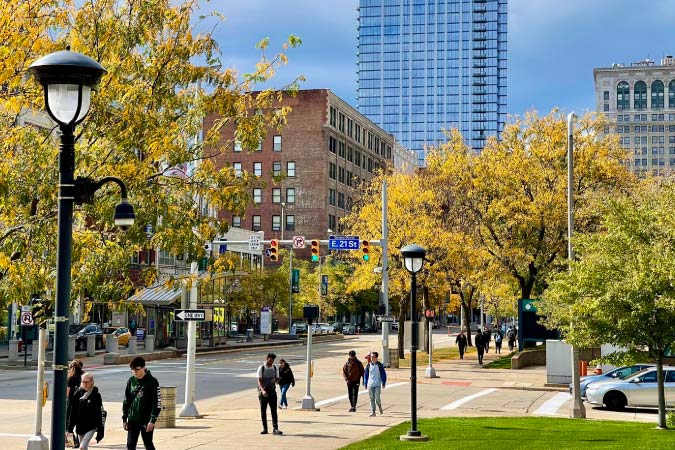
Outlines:
<svg viewBox="0 0 675 450"><path fill-rule="evenodd" d="M146 450L155 450L152 435L162 406L159 382L145 368L145 359L137 356L129 364L133 375L127 381L122 403L122 422L127 432L127 450L136 450L138 436Z"/></svg>

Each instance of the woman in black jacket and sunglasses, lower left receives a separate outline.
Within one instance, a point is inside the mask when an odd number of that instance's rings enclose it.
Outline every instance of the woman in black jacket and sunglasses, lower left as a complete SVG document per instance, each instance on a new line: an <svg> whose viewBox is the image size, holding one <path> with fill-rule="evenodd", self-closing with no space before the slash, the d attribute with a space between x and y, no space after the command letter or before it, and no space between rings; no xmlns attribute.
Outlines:
<svg viewBox="0 0 675 450"><path fill-rule="evenodd" d="M94 376L85 373L82 375L80 387L73 394L68 416L68 434L73 439L73 432L77 432L80 450L89 448L89 442L95 433L96 442L103 439L102 410L103 400L98 388L94 386Z"/></svg>

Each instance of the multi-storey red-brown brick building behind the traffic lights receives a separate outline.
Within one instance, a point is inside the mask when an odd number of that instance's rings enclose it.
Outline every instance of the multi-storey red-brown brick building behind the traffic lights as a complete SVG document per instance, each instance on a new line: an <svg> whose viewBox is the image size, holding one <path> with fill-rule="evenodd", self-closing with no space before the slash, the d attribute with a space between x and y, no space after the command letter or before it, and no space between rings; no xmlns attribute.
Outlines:
<svg viewBox="0 0 675 450"><path fill-rule="evenodd" d="M394 137L328 89L299 91L278 106L292 108L287 124L281 132L270 130L252 151L235 141L233 125L223 128L221 142L229 148L218 163L259 182L245 216L223 211L220 217L263 231L265 239L326 239L328 229L342 230L340 219L351 210L359 184L393 166ZM206 117L205 129L217 118Z"/></svg>

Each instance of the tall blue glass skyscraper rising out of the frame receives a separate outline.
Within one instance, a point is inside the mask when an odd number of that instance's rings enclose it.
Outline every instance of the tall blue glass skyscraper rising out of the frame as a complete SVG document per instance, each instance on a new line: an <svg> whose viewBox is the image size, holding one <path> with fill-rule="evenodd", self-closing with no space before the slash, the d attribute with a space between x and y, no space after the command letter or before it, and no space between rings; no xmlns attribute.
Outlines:
<svg viewBox="0 0 675 450"><path fill-rule="evenodd" d="M507 0L360 0L359 111L418 154L457 128L480 151L506 121Z"/></svg>

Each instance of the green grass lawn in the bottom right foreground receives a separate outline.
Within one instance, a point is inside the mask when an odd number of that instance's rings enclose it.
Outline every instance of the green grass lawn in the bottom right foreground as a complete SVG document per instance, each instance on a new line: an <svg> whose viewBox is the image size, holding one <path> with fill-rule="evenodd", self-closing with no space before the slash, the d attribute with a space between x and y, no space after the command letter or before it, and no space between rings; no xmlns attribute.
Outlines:
<svg viewBox="0 0 675 450"><path fill-rule="evenodd" d="M428 442L399 441L410 422L402 423L342 450L652 450L675 448L675 431L638 422L554 419L545 417L450 417L422 419L417 429Z"/></svg>

